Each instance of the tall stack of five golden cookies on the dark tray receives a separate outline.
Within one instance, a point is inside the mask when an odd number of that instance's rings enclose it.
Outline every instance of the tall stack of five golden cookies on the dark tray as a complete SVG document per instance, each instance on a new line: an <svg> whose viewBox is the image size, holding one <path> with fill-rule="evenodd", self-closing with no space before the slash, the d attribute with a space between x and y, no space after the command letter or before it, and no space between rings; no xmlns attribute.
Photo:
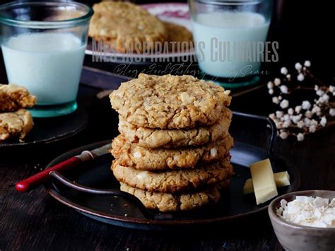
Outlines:
<svg viewBox="0 0 335 251"><path fill-rule="evenodd" d="M113 91L120 135L112 171L121 190L160 211L218 202L233 175L229 94L185 75L140 74Z"/></svg>

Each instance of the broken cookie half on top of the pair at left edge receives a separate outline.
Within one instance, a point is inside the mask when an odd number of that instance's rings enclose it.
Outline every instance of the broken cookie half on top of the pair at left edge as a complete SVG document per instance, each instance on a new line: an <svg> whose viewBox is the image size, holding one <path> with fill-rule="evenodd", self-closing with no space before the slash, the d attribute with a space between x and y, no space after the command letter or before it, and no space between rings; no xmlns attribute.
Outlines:
<svg viewBox="0 0 335 251"><path fill-rule="evenodd" d="M0 112L13 112L20 108L33 107L36 97L22 86L0 84Z"/></svg>

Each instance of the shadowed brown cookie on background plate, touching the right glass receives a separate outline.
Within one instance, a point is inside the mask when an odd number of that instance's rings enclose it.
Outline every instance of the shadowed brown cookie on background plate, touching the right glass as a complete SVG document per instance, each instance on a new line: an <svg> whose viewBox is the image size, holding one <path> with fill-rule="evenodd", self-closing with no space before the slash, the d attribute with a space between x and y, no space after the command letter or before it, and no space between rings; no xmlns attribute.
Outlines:
<svg viewBox="0 0 335 251"><path fill-rule="evenodd" d="M170 52L187 52L193 47L192 32L177 23L164 22Z"/></svg>

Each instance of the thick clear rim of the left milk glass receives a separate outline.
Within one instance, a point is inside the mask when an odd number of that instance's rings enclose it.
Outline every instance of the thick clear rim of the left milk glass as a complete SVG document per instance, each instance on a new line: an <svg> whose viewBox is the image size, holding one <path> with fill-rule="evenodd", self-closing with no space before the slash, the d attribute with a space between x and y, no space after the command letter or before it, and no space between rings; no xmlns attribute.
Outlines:
<svg viewBox="0 0 335 251"><path fill-rule="evenodd" d="M19 6L80 6L86 10L86 13L83 16L78 18L70 18L59 21L24 21L16 18L8 18L1 15L1 11L15 8ZM11 1L7 4L0 5L0 23L11 26L19 26L23 28L66 28L80 25L93 16L93 8L86 4L81 4L76 1L30 1L30 2L20 2L20 1Z"/></svg>

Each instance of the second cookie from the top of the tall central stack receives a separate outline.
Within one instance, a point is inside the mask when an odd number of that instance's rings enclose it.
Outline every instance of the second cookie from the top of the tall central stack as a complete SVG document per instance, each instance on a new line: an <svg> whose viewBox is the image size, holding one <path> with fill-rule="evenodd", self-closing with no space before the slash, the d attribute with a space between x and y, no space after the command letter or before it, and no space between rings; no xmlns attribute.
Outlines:
<svg viewBox="0 0 335 251"><path fill-rule="evenodd" d="M119 116L119 132L131 143L146 148L201 146L228 136L232 112L223 108L221 119L209 127L195 129L149 129L136 127Z"/></svg>

